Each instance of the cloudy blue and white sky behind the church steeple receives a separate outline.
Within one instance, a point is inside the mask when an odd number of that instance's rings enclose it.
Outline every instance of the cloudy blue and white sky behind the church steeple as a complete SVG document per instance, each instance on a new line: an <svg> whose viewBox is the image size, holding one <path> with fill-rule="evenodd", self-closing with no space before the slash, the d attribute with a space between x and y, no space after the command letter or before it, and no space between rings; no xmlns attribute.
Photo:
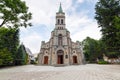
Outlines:
<svg viewBox="0 0 120 80"><path fill-rule="evenodd" d="M66 16L66 28L72 41L82 41L86 37L100 39L101 32L95 17L98 0L23 0L32 13L32 27L20 29L20 41L33 54L39 53L41 41L49 41L55 28L55 16L60 2Z"/></svg>

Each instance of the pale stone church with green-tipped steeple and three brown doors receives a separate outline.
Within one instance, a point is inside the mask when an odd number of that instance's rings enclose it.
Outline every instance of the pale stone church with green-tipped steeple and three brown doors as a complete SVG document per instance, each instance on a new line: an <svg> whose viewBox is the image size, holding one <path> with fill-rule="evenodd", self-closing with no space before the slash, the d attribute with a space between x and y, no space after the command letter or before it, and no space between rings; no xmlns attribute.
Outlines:
<svg viewBox="0 0 120 80"><path fill-rule="evenodd" d="M70 32L66 28L65 13L60 4L56 13L56 24L48 42L41 42L38 64L51 66L80 65L84 63L82 45L72 42Z"/></svg>

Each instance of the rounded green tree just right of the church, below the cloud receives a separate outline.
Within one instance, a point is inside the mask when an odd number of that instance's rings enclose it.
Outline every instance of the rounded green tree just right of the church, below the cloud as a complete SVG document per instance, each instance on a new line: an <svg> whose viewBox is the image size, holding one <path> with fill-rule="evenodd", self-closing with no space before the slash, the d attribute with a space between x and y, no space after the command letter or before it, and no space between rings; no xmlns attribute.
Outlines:
<svg viewBox="0 0 120 80"><path fill-rule="evenodd" d="M97 59L102 59L102 55L105 53L104 44L101 40L94 40L87 37L82 41L83 53L85 54L86 61L96 62Z"/></svg>

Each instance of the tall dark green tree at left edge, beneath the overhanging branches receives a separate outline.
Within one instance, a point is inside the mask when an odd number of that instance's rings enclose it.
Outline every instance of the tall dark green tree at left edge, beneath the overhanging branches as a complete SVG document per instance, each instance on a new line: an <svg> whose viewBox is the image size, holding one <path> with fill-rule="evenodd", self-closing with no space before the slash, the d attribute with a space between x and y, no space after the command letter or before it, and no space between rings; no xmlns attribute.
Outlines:
<svg viewBox="0 0 120 80"><path fill-rule="evenodd" d="M19 46L19 30L18 29L10 29L10 28L0 28L0 50L6 53L10 53L9 55L13 58L13 63L16 59L17 48ZM1 55L2 56L2 55ZM9 56L8 56L9 57Z"/></svg>

